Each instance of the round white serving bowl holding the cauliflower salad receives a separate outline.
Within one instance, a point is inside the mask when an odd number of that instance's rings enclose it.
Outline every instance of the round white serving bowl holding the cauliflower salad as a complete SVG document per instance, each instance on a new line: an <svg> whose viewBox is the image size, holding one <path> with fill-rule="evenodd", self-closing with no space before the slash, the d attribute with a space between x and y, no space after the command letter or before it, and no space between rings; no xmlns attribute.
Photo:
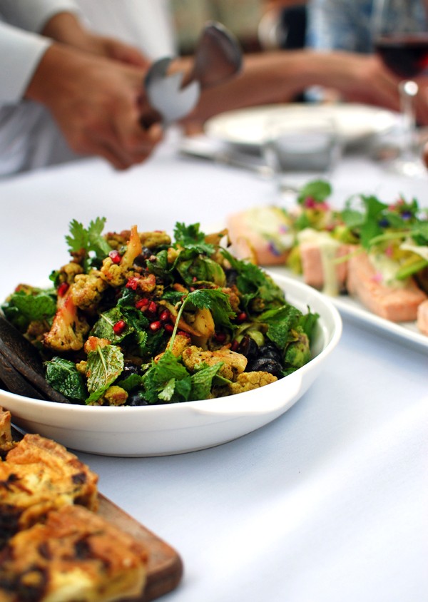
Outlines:
<svg viewBox="0 0 428 602"><path fill-rule="evenodd" d="M286 412L320 374L342 334L332 302L292 278L276 276L287 301L317 312L312 359L260 389L199 402L142 407L96 407L39 401L0 390L0 405L17 427L91 454L161 456L214 447L263 427Z"/></svg>

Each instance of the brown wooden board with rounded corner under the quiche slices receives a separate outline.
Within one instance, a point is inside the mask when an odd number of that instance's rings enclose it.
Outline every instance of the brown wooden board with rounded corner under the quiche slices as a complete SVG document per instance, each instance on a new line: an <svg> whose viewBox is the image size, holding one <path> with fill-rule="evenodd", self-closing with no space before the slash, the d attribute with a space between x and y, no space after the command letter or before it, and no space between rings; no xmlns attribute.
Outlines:
<svg viewBox="0 0 428 602"><path fill-rule="evenodd" d="M98 514L141 541L148 550L146 588L136 602L149 602L175 589L183 575L183 562L178 553L102 494L99 494L99 502Z"/></svg>

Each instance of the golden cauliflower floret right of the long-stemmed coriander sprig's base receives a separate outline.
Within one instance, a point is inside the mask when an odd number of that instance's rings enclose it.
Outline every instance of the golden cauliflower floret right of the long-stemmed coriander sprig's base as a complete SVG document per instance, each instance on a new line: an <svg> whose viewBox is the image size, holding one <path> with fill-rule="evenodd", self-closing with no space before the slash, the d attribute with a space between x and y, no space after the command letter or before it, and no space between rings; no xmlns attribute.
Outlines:
<svg viewBox="0 0 428 602"><path fill-rule="evenodd" d="M191 345L183 351L183 364L190 372L195 372L203 364L214 366L223 362L219 374L228 380L235 378L247 367L247 358L245 355L230 351L228 349L220 349L218 351L204 351L200 347Z"/></svg>

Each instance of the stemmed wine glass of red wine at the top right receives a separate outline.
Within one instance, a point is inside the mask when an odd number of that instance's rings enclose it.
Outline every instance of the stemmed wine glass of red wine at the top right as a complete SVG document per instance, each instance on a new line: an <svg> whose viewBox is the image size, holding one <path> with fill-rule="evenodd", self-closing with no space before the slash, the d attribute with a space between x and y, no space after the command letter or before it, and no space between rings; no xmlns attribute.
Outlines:
<svg viewBox="0 0 428 602"><path fill-rule="evenodd" d="M414 101L419 91L413 78L428 74L427 0L373 0L374 49L401 81L403 143L389 168L400 175L427 174L416 151Z"/></svg>

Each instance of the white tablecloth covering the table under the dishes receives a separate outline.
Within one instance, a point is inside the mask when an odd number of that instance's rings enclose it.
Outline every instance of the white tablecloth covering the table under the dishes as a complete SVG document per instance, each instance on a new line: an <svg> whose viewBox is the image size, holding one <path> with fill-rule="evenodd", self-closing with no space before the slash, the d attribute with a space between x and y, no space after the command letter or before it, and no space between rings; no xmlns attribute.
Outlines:
<svg viewBox="0 0 428 602"><path fill-rule="evenodd" d="M68 260L75 218L172 231L280 203L270 180L180 158L168 137L144 165L101 160L0 182L4 299ZM360 155L332 175L352 193L427 206L428 178L402 180ZM185 573L170 602L423 602L428 599L427 352L344 317L315 384L267 426L176 456L79 454L103 494L175 547Z"/></svg>

